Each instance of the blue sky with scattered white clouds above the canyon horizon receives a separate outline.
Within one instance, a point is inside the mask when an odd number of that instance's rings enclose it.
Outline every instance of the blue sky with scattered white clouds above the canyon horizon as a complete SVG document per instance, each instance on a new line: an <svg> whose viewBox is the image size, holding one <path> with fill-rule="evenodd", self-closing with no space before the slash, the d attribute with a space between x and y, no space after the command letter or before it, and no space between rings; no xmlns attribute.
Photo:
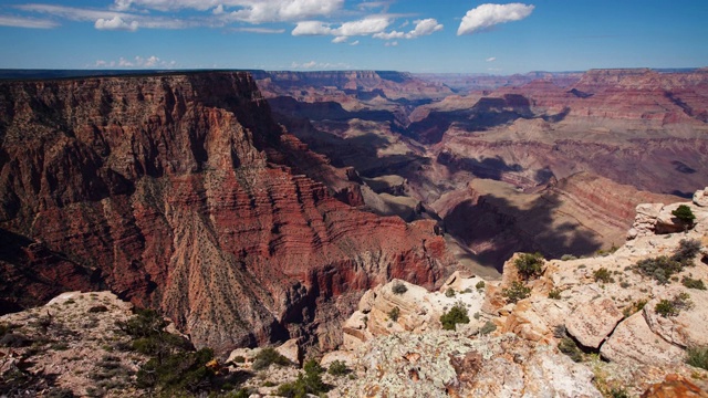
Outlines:
<svg viewBox="0 0 708 398"><path fill-rule="evenodd" d="M708 66L706 0L0 2L2 69Z"/></svg>

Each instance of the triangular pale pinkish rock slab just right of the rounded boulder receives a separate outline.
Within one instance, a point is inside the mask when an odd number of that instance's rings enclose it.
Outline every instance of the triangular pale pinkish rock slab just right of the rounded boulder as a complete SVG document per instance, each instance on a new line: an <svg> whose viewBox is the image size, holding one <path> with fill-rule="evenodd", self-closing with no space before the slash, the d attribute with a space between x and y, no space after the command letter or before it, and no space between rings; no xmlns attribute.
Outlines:
<svg viewBox="0 0 708 398"><path fill-rule="evenodd" d="M642 312L620 323L600 348L600 354L612 362L657 366L676 364L684 359L684 350L652 332Z"/></svg>

